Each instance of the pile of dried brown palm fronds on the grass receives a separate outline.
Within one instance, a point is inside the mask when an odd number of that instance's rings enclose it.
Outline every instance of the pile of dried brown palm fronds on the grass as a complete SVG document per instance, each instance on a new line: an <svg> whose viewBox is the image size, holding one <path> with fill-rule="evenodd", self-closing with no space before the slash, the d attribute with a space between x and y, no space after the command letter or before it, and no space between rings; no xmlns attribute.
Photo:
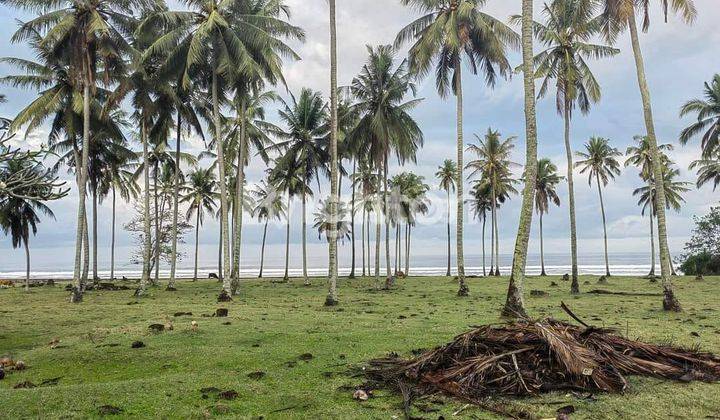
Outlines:
<svg viewBox="0 0 720 420"><path fill-rule="evenodd" d="M620 392L628 386L626 375L720 380L720 357L583 325L548 319L481 326L409 360L373 360L366 374L376 385L401 391L406 404L438 392L471 402L554 390Z"/></svg>

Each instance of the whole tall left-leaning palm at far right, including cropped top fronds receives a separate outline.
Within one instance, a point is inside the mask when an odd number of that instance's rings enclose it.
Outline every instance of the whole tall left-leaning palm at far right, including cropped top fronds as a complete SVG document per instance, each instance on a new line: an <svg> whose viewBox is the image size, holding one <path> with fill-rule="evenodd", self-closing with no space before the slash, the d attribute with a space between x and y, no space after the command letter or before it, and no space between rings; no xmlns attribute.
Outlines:
<svg viewBox="0 0 720 420"><path fill-rule="evenodd" d="M633 55L635 57L635 69L637 72L638 86L642 99L643 116L645 119L645 128L650 142L650 150L653 156L653 178L663 178L663 162L660 159L660 150L657 144L657 136L655 134L655 121L652 113L652 103L650 101L650 87L648 85L647 76L645 74L645 62L640 48L640 36L638 34L637 22L635 18L636 11L643 13L643 30L650 28L650 0L601 0L605 7L605 36L613 42L618 35L625 29L630 31L630 43L632 44ZM662 8L665 18L670 9L680 14L681 18L692 23L697 16L697 10L693 0L667 0L658 1ZM668 249L667 240L667 221L665 218L665 191L662 183L657 190L657 218L658 218L658 236L660 239L660 269L662 274L662 283L664 290L663 309L666 311L681 311L680 302L675 297L672 281L670 280L670 251Z"/></svg>

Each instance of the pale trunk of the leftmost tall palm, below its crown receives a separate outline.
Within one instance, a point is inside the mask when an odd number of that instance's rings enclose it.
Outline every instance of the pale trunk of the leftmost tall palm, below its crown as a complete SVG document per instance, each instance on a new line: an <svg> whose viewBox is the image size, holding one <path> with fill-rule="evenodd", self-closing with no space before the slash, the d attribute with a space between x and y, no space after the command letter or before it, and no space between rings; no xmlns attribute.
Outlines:
<svg viewBox="0 0 720 420"><path fill-rule="evenodd" d="M82 302L84 283L81 277L82 247L83 247L83 225L85 220L85 190L87 179L87 164L90 149L90 81L85 78L83 83L83 147L78 172L78 216L75 237L75 270L73 272L73 289L70 294L70 302Z"/></svg>

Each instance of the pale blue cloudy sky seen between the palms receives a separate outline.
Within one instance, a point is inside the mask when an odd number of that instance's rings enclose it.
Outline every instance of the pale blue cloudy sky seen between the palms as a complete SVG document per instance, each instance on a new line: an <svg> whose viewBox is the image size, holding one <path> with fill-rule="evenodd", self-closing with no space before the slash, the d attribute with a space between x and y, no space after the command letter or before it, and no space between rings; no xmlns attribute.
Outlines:
<svg viewBox="0 0 720 420"><path fill-rule="evenodd" d="M641 43L646 61L647 76L652 92L655 123L658 137L663 143L675 145L670 153L672 159L681 170L681 178L694 182L695 176L688 171L688 165L699 158L697 141L683 147L678 141L680 131L692 121L691 117L680 118L681 105L695 97L702 96L703 83L720 72L720 56L717 45L720 45L720 7L717 0L696 0L698 19L692 26L687 26L679 19L671 16L668 23L655 11L652 14L652 27L647 34L641 34ZM329 91L329 35L328 7L326 0L287 0L291 7L291 22L306 31L304 43L294 42L302 60L285 63L285 78L291 92L299 92L309 87L323 92ZM539 9L543 2L536 1L536 19L540 19ZM659 2L658 2L659 4ZM173 6L171 4L171 6ZM338 60L339 84L347 85L360 71L367 59L367 45L389 44L398 31L411 19L417 17L415 11L403 7L399 0L338 0ZM504 21L519 13L520 1L489 0L486 12ZM13 45L9 42L17 28L16 19L27 19L16 10L0 6L0 56L17 56L32 58L25 45ZM517 28L519 31L519 28ZM616 47L621 53L611 59L591 62L591 68L602 86L603 97L589 115L576 114L572 127L573 150L581 150L591 136L610 139L612 145L624 151L633 142L633 136L644 132L642 107L637 88L635 66L627 36L620 38ZM536 46L536 49L538 47ZM405 51L399 52L398 60ZM510 55L513 66L520 64L520 56L513 52ZM13 74L15 69L0 64L0 76ZM482 135L489 127L499 130L503 136L517 136L513 160L524 162L524 117L522 78L516 75L511 80L501 80L494 88L488 87L482 77L476 77L465 71L465 123L466 141L474 141L474 134ZM445 233L445 202L444 193L438 190L434 173L444 159L453 158L455 154L455 103L454 99L441 99L435 91L434 80L428 78L419 82L418 97L423 103L413 115L420 124L425 136L425 145L418 153L417 165L391 169L415 172L425 177L432 187L431 198L435 198L430 215L421 221L415 230L413 253L416 256L434 255L438 253L438 244L446 241ZM36 95L35 92L21 91L9 86L0 87L8 97L8 102L0 104L0 115L14 116ZM279 87L278 92L288 97L285 88ZM275 112L269 113L271 121L278 121ZM564 173L565 150L562 138L562 120L554 107L554 98L549 96L538 102L539 155L553 160ZM30 134L23 145L37 146L46 141L46 132L38 130ZM198 138L189 138L183 148L197 152L202 147ZM466 161L473 156L466 153ZM264 164L254 159L247 171L248 181L252 184L263 176ZM602 224L599 210L599 199L596 188L588 185L585 175L576 174L576 201L578 220L578 239L580 255L597 254L602 250ZM68 178L69 179L69 178ZM346 182L347 184L347 182ZM637 200L632 196L635 188L642 185L638 172L634 168L623 169L614 182L603 191L610 240L611 254L645 252L649 243L649 221L640 214ZM560 187L560 208L553 208L544 218L545 246L549 253L566 254L569 252L569 217L567 210L567 188ZM707 212L710 206L720 201L720 191L712 188L693 189L685 196L686 203L680 212L669 213L668 228L671 250L678 254L687 241L692 230L693 215ZM499 212L501 252L510 253L513 249L517 222L519 218L520 198L512 200ZM71 194L51 204L56 214L56 221L44 220L39 226L38 235L31 240L36 259L57 260L65 265L66 258L72 256L75 215L77 211L77 194ZM125 249L132 249L133 239L123 231L122 225L133 213L131 203L120 203L118 214L118 244ZM311 213L312 210L309 210ZM101 259L106 260L109 246L110 203L104 202L99 210L100 252ZM310 218L312 215L310 215ZM292 217L292 243L300 241L300 215L295 212ZM246 217L246 221L250 219ZM535 221L536 222L536 221ZM470 218L466 220L466 249L468 253L477 254L480 244L480 226ZM208 221L203 226L200 242L207 249L217 243L218 225ZM359 229L358 229L359 231ZM244 230L243 241L252 252L260 243L262 227L257 223L248 223ZM271 226L269 242L280 244L284 241L284 227ZM314 231L308 237L314 249L322 249L322 242L317 239ZM535 224L530 243L531 253L539 247L537 225ZM192 235L186 237L192 243ZM183 245L185 251L190 248ZM8 265L19 264L23 254L21 250L12 250L10 240L0 236L0 271L3 271L3 260ZM129 252L129 251L128 251ZM248 251L251 252L251 251ZM318 251L319 252L319 251ZM343 246L341 252L349 252Z"/></svg>

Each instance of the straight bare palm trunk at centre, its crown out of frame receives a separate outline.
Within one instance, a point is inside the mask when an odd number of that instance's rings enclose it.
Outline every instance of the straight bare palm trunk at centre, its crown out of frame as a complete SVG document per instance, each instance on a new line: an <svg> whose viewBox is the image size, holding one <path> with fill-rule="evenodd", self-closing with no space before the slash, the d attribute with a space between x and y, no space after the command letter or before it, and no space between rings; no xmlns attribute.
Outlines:
<svg viewBox="0 0 720 420"><path fill-rule="evenodd" d="M337 98L337 22L335 0L330 3L330 246L328 247L329 273L326 306L338 304L337 294L337 206L338 206L338 98Z"/></svg>

